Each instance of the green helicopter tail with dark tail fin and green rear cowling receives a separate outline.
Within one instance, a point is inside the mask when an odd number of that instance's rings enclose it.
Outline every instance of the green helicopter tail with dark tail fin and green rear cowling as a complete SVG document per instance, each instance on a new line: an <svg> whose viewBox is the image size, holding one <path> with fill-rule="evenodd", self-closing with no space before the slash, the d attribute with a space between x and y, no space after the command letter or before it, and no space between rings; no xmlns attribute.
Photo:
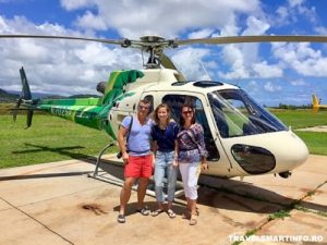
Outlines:
<svg viewBox="0 0 327 245"><path fill-rule="evenodd" d="M22 94L13 110L14 120L19 110L27 110L26 128L32 125L34 110L43 110L56 117L73 121L77 124L95 130L105 130L113 139L116 133L108 121L108 113L121 99L132 96L126 86L143 77L138 70L114 71L107 83L101 82L101 98L68 98L68 99L33 99L24 69L20 70ZM20 107L24 108L20 108Z"/></svg>

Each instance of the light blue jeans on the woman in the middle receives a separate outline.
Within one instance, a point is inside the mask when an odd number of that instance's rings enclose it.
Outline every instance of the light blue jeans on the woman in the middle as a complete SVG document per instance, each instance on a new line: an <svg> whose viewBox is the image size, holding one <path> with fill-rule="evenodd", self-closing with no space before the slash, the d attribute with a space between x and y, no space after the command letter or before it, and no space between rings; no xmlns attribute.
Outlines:
<svg viewBox="0 0 327 245"><path fill-rule="evenodd" d="M165 172L167 171L167 182L168 182L168 192L167 199L168 201L173 201L174 191L175 191L175 180L178 169L173 167L174 151L157 151L156 164L155 164L155 191L158 203L164 203L165 196L162 192L164 187L164 177Z"/></svg>

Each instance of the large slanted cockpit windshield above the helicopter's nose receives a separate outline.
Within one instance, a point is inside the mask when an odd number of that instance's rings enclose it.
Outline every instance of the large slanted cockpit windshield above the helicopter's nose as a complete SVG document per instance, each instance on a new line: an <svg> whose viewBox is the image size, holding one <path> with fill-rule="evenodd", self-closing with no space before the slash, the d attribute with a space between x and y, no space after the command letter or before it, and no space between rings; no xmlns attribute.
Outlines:
<svg viewBox="0 0 327 245"><path fill-rule="evenodd" d="M208 99L223 138L288 130L242 89L211 91Z"/></svg>

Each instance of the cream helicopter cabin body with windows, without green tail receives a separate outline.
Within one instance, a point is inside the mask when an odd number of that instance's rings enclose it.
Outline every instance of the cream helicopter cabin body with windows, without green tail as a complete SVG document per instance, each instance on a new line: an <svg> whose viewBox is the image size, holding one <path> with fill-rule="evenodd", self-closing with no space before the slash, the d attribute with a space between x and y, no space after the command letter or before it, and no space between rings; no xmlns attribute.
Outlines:
<svg viewBox="0 0 327 245"><path fill-rule="evenodd" d="M232 177L286 173L306 160L305 144L238 86L186 82L181 73L169 69L142 72L144 77L125 88L131 95L110 110L112 128L118 131L124 117L136 113L141 99L152 101L153 109L162 102L169 105L177 122L181 106L191 102L209 152L209 170L203 174Z"/></svg>

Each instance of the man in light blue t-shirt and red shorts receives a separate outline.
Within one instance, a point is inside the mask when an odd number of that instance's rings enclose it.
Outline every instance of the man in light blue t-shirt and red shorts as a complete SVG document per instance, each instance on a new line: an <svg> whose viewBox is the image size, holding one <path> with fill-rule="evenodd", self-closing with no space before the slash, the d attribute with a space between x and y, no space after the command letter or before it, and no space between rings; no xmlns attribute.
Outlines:
<svg viewBox="0 0 327 245"><path fill-rule="evenodd" d="M150 133L153 120L148 119L150 103L141 100L137 106L137 114L123 119L118 133L118 143L124 161L124 185L120 193L120 211L117 221L125 222L125 208L131 196L131 189L138 179L137 211L148 216L149 210L144 206L144 197L148 180L153 174L153 152L150 150ZM132 121L132 122L131 122ZM132 124L131 124L132 123ZM129 132L131 128L131 132ZM125 136L129 134L128 142Z"/></svg>

